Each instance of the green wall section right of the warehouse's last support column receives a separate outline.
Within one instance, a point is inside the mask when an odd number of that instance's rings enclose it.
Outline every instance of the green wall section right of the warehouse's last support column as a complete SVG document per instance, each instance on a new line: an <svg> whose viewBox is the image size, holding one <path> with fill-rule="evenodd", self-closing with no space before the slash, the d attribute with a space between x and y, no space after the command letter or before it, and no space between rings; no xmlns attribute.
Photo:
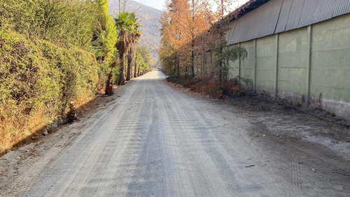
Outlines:
<svg viewBox="0 0 350 197"><path fill-rule="evenodd" d="M350 15L312 26L311 96L350 102Z"/></svg>

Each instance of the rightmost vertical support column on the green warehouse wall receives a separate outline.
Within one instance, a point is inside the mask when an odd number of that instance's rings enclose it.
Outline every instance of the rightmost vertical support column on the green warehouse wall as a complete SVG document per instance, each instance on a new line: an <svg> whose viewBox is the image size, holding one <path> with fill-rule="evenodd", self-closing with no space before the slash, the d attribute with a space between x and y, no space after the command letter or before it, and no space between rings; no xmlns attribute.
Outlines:
<svg viewBox="0 0 350 197"><path fill-rule="evenodd" d="M307 76L306 78L306 94L304 95L305 105L309 105L310 100L310 82L311 82L311 53L312 53L312 26L307 26L307 43L308 43L308 53L307 55Z"/></svg>

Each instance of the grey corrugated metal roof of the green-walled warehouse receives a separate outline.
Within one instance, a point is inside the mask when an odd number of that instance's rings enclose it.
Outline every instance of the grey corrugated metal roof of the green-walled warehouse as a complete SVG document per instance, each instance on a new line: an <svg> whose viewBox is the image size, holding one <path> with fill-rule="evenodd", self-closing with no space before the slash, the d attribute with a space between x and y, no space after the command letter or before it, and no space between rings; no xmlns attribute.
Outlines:
<svg viewBox="0 0 350 197"><path fill-rule="evenodd" d="M266 0L251 0L232 12L241 17L230 24L228 44L286 32L350 13L350 0L270 0L265 3ZM258 8L251 5L258 5Z"/></svg>

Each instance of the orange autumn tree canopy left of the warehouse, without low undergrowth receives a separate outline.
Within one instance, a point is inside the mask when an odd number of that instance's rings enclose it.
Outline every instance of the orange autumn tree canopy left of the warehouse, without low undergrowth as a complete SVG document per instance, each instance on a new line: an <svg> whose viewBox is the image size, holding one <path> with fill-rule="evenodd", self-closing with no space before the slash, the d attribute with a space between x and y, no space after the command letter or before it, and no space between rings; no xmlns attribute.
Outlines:
<svg viewBox="0 0 350 197"><path fill-rule="evenodd" d="M195 80L210 76L221 81L224 59L239 58L244 50L234 48L224 53L227 24L224 14L230 12L230 0L170 0L160 18L162 25L159 50L162 66L169 75ZM213 11L212 8L216 8ZM220 27L215 24L221 24ZM207 52L218 48L207 69ZM228 56L232 55L232 56ZM196 76L199 75L199 76Z"/></svg>

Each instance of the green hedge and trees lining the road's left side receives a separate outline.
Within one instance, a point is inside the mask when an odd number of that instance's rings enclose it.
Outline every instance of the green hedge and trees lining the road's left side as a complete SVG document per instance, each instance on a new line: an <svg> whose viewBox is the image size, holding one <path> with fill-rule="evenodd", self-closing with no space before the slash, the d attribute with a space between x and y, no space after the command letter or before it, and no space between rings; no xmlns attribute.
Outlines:
<svg viewBox="0 0 350 197"><path fill-rule="evenodd" d="M119 81L121 31L108 11L108 0L0 0L0 155L64 117L71 102L92 100L109 74ZM133 36L136 48L141 35ZM151 66L138 53L128 63L134 76Z"/></svg>

